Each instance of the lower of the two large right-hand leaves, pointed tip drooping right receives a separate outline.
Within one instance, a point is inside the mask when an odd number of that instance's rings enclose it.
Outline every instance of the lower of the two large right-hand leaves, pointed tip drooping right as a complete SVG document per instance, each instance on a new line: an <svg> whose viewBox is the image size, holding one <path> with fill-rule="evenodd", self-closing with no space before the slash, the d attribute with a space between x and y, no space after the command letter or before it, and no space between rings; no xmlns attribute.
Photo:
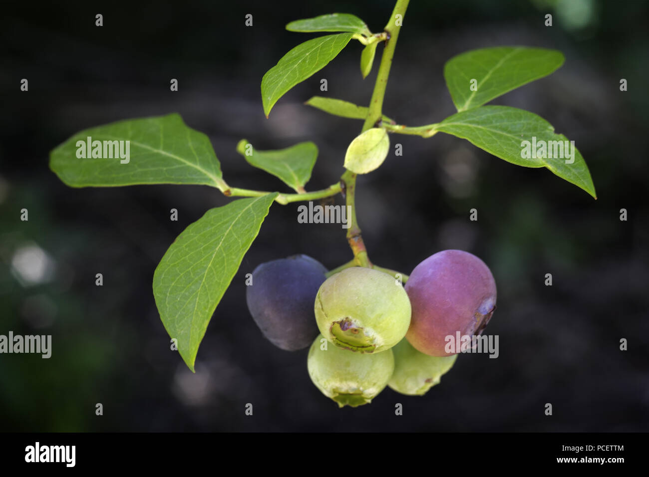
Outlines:
<svg viewBox="0 0 649 477"><path fill-rule="evenodd" d="M569 154L560 154L558 143L551 141L567 141L563 134L555 134L554 127L543 117L529 111L509 106L482 106L469 111L463 111L447 117L435 126L436 130L458 136L471 142L501 159L512 164L524 167L547 167L557 176L571 184L582 188L595 199L595 188L591 173L588 171L582 154L574 148L572 158ZM533 138L535 138L533 140ZM541 141L545 141L546 156L554 157L529 157L526 154L526 145L523 141L530 141L527 151L532 152L532 141L539 150ZM550 148L552 149L550 154ZM570 147L570 150L573 148ZM563 158L556 157L563 155ZM571 164L566 164L569 161Z"/></svg>

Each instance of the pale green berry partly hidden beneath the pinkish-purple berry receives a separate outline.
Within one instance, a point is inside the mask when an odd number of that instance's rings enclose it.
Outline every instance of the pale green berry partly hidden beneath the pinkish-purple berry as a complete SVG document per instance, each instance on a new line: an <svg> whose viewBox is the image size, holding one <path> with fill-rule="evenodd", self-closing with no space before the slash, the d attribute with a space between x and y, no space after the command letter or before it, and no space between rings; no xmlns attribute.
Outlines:
<svg viewBox="0 0 649 477"><path fill-rule="evenodd" d="M402 339L393 347L395 371L387 384L397 393L422 396L435 384L439 384L442 374L448 372L458 359L452 356L428 356Z"/></svg>

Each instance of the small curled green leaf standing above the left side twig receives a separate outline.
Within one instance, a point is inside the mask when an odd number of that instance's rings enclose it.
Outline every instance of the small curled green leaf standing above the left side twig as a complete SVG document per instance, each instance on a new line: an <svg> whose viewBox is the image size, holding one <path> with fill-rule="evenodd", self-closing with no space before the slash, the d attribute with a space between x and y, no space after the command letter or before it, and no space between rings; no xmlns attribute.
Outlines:
<svg viewBox="0 0 649 477"><path fill-rule="evenodd" d="M309 182L318 156L318 148L312 142L301 142L277 151L257 151L242 139L237 151L250 165L280 178L297 192L304 192L304 184Z"/></svg>

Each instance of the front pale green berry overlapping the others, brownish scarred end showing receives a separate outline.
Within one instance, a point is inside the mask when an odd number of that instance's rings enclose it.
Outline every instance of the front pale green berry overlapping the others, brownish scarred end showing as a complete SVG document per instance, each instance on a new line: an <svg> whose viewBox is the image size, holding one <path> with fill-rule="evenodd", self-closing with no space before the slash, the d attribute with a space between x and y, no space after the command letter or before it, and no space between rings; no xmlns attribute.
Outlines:
<svg viewBox="0 0 649 477"><path fill-rule="evenodd" d="M351 267L322 284L315 297L315 320L337 347L378 353L406 336L410 299L387 273Z"/></svg>

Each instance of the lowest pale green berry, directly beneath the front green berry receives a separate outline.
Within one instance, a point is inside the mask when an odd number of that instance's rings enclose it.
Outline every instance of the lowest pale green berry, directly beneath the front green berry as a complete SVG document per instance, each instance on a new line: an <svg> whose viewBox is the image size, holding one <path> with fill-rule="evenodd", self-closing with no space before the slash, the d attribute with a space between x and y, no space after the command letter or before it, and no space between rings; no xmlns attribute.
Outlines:
<svg viewBox="0 0 649 477"><path fill-rule="evenodd" d="M315 387L338 406L362 406L386 387L395 358L391 350L377 354L353 353L332 346L319 335L307 358L309 376Z"/></svg>

